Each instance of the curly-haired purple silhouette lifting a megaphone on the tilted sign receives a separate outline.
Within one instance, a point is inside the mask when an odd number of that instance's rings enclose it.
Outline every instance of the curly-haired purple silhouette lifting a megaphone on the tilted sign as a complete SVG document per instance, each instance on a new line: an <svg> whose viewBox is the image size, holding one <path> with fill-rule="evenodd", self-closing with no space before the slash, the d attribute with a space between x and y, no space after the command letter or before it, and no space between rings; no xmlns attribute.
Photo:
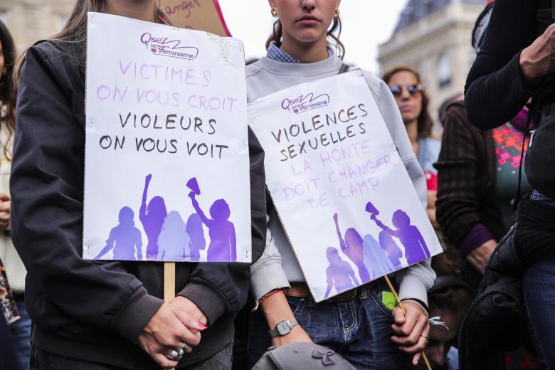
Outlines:
<svg viewBox="0 0 555 370"><path fill-rule="evenodd" d="M375 214L372 214L371 219L376 222L379 228L386 231L389 235L395 236L401 240L401 244L405 247L405 255L408 265L413 265L430 258L430 250L426 245L424 238L416 226L411 225L411 218L408 214L398 209L393 213L393 226L398 228L398 230L392 230L384 225L381 221L376 218Z"/></svg>

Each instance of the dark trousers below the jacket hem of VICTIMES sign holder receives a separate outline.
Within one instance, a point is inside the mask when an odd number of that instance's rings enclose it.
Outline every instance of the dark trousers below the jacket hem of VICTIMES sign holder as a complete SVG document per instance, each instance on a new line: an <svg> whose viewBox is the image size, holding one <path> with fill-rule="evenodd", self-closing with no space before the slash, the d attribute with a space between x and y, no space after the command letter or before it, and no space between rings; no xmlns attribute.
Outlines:
<svg viewBox="0 0 555 370"><path fill-rule="evenodd" d="M231 370L231 349L233 342L223 347L210 358L199 364L194 364L183 370ZM105 364L97 364L96 362L83 361L78 359L70 359L65 356L58 356L50 352L43 351L33 346L31 349L31 367L30 370L124 370L117 366ZM160 369L156 367L154 369Z"/></svg>

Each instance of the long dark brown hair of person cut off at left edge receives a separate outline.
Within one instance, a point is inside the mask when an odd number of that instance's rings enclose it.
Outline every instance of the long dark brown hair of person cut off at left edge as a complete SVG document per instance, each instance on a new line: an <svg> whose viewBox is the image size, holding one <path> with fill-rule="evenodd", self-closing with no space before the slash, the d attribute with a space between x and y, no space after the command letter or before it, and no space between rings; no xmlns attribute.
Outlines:
<svg viewBox="0 0 555 370"><path fill-rule="evenodd" d="M2 21L0 21L0 43L4 56L4 65L2 66L4 74L0 77L0 103L4 112L2 112L0 120L0 130L8 130L6 142L2 142L1 145L4 147L6 157L11 159L11 148L8 147L8 144L16 129L16 90L13 77L16 46L8 28Z"/></svg>

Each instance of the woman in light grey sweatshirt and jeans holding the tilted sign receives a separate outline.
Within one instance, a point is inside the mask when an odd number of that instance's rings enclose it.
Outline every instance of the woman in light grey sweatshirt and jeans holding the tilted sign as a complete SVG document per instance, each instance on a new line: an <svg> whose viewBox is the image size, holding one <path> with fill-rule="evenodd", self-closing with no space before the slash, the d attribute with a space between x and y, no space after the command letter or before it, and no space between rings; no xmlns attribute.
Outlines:
<svg viewBox="0 0 555 370"><path fill-rule="evenodd" d="M269 1L271 13L278 19L267 43L267 56L247 68L249 101L347 69L341 58L344 48L334 35L340 28L339 2ZM364 72L364 78L425 206L424 174L393 95L387 85L371 73ZM251 321L252 363L268 346L270 336L275 346L312 341L323 344L340 351L358 369L405 369L407 354L415 354L414 363L419 360L429 332L426 292L435 279L430 260L396 273L406 316L399 307L393 312L385 308L388 295L382 293L388 288L384 280L369 282L314 304L275 209L269 212L268 226L263 257L251 268L253 292L264 314L263 317L258 314L258 319L255 317ZM310 247L307 245L307 248Z"/></svg>

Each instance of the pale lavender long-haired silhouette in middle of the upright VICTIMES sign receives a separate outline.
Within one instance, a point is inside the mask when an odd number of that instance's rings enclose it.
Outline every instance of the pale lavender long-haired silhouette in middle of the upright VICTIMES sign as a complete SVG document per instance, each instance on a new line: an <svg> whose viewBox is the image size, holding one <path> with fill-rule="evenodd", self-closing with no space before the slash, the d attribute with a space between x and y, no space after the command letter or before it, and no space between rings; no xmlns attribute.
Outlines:
<svg viewBox="0 0 555 370"><path fill-rule="evenodd" d="M185 223L177 211L171 211L164 221L162 231L158 236L159 261L185 261L190 260L191 238L186 231Z"/></svg>

